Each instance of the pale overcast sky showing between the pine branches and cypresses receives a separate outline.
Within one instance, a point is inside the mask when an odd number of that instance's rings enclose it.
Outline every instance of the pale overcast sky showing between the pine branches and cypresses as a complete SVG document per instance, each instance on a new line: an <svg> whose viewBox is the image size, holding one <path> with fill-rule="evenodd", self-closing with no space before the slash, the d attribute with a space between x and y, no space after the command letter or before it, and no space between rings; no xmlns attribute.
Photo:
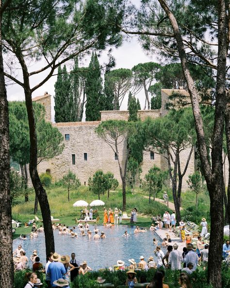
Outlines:
<svg viewBox="0 0 230 288"><path fill-rule="evenodd" d="M133 0L133 2L137 3L139 0ZM131 69L134 65L138 63L144 63L149 61L156 61L156 58L149 57L147 54L145 54L144 50L141 48L140 43L137 41L137 39L132 36L130 38L130 41L126 41L123 43L123 45L117 49L113 49L111 53L115 57L115 68L128 68ZM88 66L90 60L90 56L83 59L80 66ZM99 62L102 65L103 63L108 62L108 57L106 53L102 53L99 57ZM45 62L36 62L32 66L30 66L29 71L34 71L36 69L39 69L43 67L46 63ZM68 66L68 64L67 64ZM67 68L68 69L68 68ZM55 72L56 73L56 72ZM18 79L21 78L20 72L18 72ZM39 83L44 78L44 74L36 74L33 78L31 77L31 87ZM47 81L43 86L41 86L39 89L35 90L33 92L32 97L43 95L45 91L47 91L49 94L52 95L52 121L54 121L54 101L53 101L53 95L54 95L54 84L56 82L57 76L52 76L49 81ZM143 91L141 91L137 97L140 100L141 107L143 108L144 102L145 102L145 96ZM7 98L9 101L12 100L25 100L23 89L17 85L9 85L7 86ZM128 97L126 97L128 98ZM127 100L123 101L121 109L127 109Z"/></svg>

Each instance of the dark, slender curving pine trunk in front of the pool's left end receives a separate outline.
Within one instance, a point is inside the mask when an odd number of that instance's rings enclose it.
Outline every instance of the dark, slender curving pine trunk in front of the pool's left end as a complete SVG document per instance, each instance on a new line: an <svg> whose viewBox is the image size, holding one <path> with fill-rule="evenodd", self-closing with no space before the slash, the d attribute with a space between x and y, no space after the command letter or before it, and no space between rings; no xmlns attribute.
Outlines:
<svg viewBox="0 0 230 288"><path fill-rule="evenodd" d="M24 93L25 93L26 109L29 121L29 129L30 129L30 165L29 165L30 176L42 213L43 226L45 232L46 255L48 256L49 252L55 251L54 236L52 230L49 201L47 198L46 191L42 186L42 183L39 179L37 172L37 137L36 137L35 119L33 112L32 90L30 89L29 72L27 70L27 66L21 52L18 51L16 56L20 62L23 71Z"/></svg>

